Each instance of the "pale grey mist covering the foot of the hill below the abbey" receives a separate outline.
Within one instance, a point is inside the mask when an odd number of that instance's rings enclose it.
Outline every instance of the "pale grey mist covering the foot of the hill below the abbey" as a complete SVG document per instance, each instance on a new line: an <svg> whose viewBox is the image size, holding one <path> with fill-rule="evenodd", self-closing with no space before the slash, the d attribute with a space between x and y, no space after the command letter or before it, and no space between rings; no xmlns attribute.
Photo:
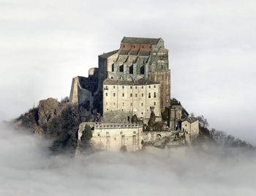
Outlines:
<svg viewBox="0 0 256 196"><path fill-rule="evenodd" d="M50 141L1 126L0 195L255 195L255 152L146 148L52 155Z"/></svg>

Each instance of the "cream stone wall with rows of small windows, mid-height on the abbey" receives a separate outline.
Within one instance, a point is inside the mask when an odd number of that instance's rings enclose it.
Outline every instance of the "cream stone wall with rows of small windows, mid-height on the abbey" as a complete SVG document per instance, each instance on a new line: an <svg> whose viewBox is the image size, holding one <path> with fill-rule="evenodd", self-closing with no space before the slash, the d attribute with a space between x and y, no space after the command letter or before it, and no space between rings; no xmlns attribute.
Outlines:
<svg viewBox="0 0 256 196"><path fill-rule="evenodd" d="M149 98L150 94L150 98ZM151 85L104 85L103 87L103 115L108 111L121 110L132 112L138 118L149 118L150 107L154 107L156 116L160 113L159 84Z"/></svg>

